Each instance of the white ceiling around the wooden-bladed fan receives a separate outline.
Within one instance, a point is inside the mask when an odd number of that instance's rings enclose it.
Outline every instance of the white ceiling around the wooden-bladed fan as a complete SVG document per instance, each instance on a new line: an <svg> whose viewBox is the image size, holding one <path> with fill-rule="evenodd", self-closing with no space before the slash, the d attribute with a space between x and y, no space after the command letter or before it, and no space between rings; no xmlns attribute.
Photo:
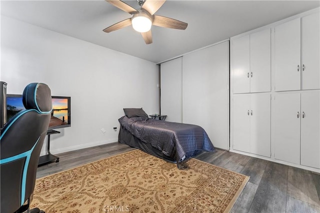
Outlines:
<svg viewBox="0 0 320 213"><path fill-rule="evenodd" d="M136 0L125 0L139 8ZM1 0L1 14L155 63L319 6L319 0L167 0L155 13L188 23L185 30L152 26L145 44L131 26L105 27L131 17L104 0ZM22 32L23 33L23 32Z"/></svg>

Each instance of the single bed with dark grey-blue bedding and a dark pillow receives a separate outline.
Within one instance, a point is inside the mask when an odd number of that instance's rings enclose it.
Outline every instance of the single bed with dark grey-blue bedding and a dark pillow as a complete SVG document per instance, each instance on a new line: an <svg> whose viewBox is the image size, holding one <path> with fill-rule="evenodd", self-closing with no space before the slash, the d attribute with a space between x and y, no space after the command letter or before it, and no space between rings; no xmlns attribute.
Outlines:
<svg viewBox="0 0 320 213"><path fill-rule="evenodd" d="M204 129L198 125L148 118L142 108L124 108L118 119L118 141L171 162L214 151Z"/></svg>

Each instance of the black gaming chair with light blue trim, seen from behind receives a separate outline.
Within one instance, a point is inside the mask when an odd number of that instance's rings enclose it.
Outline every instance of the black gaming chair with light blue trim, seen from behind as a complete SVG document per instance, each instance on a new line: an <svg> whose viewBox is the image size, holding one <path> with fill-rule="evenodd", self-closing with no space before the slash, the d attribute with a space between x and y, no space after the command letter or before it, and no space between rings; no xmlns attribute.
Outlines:
<svg viewBox="0 0 320 213"><path fill-rule="evenodd" d="M44 83L28 84L22 94L25 110L12 117L0 134L0 212L29 210L36 169L52 109ZM38 212L32 209L31 212Z"/></svg>

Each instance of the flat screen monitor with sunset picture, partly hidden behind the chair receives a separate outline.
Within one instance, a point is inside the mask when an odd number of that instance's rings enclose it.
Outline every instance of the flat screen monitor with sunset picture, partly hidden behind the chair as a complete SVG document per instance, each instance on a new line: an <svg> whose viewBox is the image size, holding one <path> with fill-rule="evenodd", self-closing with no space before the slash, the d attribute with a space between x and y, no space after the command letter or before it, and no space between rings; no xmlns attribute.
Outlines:
<svg viewBox="0 0 320 213"><path fill-rule="evenodd" d="M71 126L71 97L51 96L52 111L48 129L64 128ZM16 113L24 110L21 94L6 95L6 113L9 121Z"/></svg>

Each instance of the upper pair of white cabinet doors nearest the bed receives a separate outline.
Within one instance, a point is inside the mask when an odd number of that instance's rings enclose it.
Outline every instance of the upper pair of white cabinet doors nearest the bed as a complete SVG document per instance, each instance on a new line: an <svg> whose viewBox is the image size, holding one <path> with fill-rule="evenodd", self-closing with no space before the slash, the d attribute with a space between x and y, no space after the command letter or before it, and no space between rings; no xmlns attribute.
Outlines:
<svg viewBox="0 0 320 213"><path fill-rule="evenodd" d="M270 91L271 29L232 40L233 93Z"/></svg>

